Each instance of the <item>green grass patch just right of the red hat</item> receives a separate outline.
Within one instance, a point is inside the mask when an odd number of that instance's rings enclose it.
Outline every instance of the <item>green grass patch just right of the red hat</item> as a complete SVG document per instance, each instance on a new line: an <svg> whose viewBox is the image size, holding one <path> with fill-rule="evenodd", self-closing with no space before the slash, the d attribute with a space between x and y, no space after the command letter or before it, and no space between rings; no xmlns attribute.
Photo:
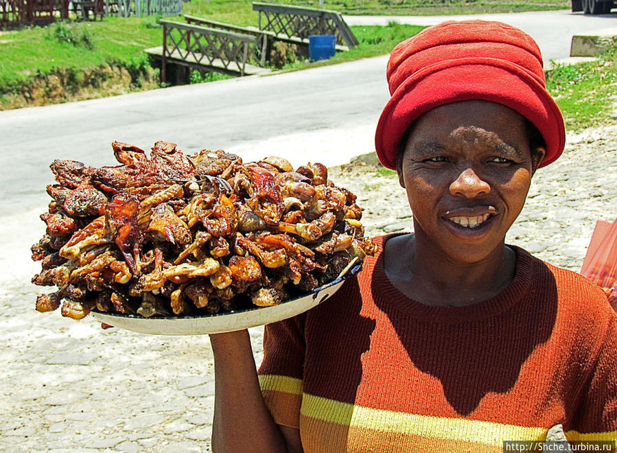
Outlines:
<svg viewBox="0 0 617 453"><path fill-rule="evenodd" d="M617 123L617 45L594 62L558 65L546 74L546 85L557 100L566 130Z"/></svg>

